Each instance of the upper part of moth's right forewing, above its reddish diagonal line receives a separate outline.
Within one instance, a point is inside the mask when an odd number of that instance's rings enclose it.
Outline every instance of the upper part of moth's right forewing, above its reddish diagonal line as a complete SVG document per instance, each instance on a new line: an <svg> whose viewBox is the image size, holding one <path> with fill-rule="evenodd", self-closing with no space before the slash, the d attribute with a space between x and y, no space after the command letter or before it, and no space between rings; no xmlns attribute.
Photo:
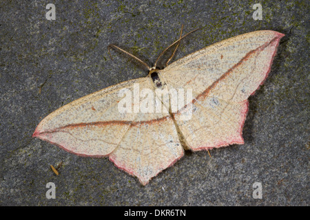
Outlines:
<svg viewBox="0 0 310 220"><path fill-rule="evenodd" d="M249 52L282 36L262 30L220 41L167 66L161 71L161 78L169 87L193 89L193 97L199 96Z"/></svg>

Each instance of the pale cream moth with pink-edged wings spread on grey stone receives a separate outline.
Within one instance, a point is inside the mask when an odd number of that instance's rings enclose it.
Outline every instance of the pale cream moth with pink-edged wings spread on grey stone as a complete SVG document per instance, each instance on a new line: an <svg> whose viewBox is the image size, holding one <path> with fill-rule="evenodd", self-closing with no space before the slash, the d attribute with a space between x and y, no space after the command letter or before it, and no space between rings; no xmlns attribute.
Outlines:
<svg viewBox="0 0 310 220"><path fill-rule="evenodd" d="M145 78L128 80L66 104L44 118L33 137L76 155L109 157L115 166L146 185L183 157L185 150L244 144L247 98L267 78L282 36L271 30L249 32L198 50L164 69L156 64L150 68L139 60L149 69ZM124 98L120 91L137 93L134 85L138 85L138 92L154 91L153 104L162 104L162 111L120 111ZM171 89L192 89L192 99L172 111L174 96L155 93ZM143 98L138 96L131 103L132 109L138 109L136 103ZM191 117L183 120L184 115Z"/></svg>

